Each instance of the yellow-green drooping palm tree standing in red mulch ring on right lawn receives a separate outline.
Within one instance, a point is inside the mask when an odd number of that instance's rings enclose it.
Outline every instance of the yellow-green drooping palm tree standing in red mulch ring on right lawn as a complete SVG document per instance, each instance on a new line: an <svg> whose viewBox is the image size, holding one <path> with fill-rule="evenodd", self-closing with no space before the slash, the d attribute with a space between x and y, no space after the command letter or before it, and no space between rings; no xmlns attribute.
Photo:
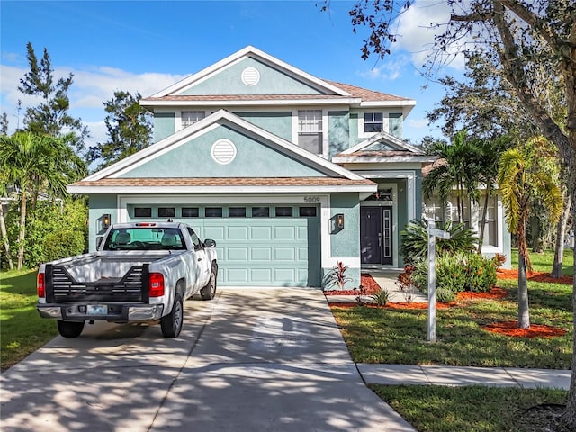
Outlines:
<svg viewBox="0 0 576 432"><path fill-rule="evenodd" d="M531 139L524 148L510 148L500 159L498 183L509 229L518 238L518 327L530 328L527 271L532 271L528 257L526 229L530 202L539 199L557 220L563 210L560 187L551 170L546 169L551 157L538 152L543 137Z"/></svg>

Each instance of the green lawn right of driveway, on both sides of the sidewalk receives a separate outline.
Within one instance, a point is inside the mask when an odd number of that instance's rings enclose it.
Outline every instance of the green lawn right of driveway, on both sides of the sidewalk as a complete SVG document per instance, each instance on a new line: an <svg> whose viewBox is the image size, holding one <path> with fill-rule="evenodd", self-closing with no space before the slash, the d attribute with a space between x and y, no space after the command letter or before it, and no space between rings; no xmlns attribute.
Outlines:
<svg viewBox="0 0 576 432"><path fill-rule="evenodd" d="M513 255L518 267L518 252ZM554 255L531 254L535 271L549 272ZM572 250L563 274L573 275ZM333 308L355 362L409 365L475 365L536 368L572 367L572 285L530 281L533 324L568 330L558 338L510 338L482 325L518 317L518 284L499 281L505 300L473 301L437 310L437 343L427 342L427 311L356 307ZM518 388L371 385L384 401L419 432L544 432L551 412L568 399L559 390ZM544 410L537 408L545 407Z"/></svg>

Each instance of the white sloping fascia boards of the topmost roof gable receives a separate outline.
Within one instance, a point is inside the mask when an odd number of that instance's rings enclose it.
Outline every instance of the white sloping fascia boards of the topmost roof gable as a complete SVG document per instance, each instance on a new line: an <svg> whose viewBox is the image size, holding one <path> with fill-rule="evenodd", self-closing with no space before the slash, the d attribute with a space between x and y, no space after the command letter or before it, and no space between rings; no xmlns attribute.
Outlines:
<svg viewBox="0 0 576 432"><path fill-rule="evenodd" d="M222 58L220 61L214 63L213 65L205 67L200 72L188 76L183 80L175 83L174 85L170 85L164 90L161 90L157 94L153 94L150 97L163 97L168 94L173 94L190 85L202 82L202 80L207 79L209 76L217 72L219 69L229 67L238 62L240 59L244 57L249 57L250 55L260 58L261 60L264 60L265 63L267 63L269 66L274 65L275 67L283 68L285 72L288 72L288 75L308 81L310 84L312 84L312 86L314 86L318 90L320 89L328 90L329 92L333 92L341 96L351 95L335 85L331 85L321 80L320 78L317 78L316 76L312 76L297 67L293 67L292 65L289 65L288 63L285 63L284 61L267 54L266 52L260 49L248 45L247 47L240 49L237 52L229 55L227 58Z"/></svg>

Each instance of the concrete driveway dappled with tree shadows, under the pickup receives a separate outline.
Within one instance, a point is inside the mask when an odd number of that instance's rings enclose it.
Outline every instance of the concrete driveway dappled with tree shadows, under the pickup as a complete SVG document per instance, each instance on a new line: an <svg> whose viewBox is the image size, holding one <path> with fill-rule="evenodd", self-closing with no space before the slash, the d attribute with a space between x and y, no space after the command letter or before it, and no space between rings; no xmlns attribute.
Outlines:
<svg viewBox="0 0 576 432"><path fill-rule="evenodd" d="M185 302L180 338L96 323L0 377L3 431L413 431L365 387L320 290Z"/></svg>

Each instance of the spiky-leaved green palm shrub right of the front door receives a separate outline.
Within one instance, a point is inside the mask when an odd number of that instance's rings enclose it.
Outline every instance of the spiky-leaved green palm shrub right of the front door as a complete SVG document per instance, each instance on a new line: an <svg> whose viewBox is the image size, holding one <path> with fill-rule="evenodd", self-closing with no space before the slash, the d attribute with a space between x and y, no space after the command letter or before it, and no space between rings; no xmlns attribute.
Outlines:
<svg viewBox="0 0 576 432"><path fill-rule="evenodd" d="M450 233L449 239L436 239L437 257L446 253L473 252L478 238L473 230L463 223L446 222L443 230ZM405 265L416 265L428 256L428 221L411 220L406 229L401 230L402 244L399 248Z"/></svg>

